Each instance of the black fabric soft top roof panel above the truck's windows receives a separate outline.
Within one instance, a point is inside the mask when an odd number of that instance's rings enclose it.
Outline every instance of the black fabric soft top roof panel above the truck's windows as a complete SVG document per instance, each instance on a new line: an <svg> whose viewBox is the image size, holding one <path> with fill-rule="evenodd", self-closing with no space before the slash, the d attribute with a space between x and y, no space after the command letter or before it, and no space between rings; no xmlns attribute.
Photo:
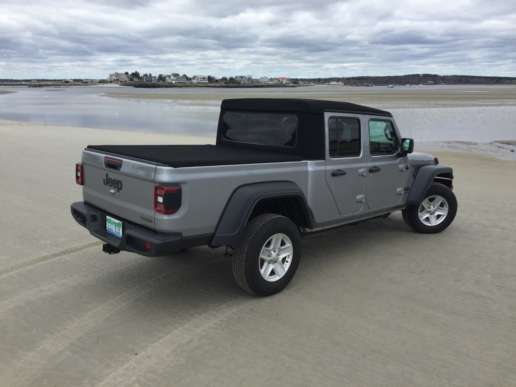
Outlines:
<svg viewBox="0 0 516 387"><path fill-rule="evenodd" d="M385 110L375 109L349 102L295 99L295 98L238 98L223 100L221 109L269 110L269 111L303 111L324 113L325 111L342 111L354 114L371 114L392 117Z"/></svg>

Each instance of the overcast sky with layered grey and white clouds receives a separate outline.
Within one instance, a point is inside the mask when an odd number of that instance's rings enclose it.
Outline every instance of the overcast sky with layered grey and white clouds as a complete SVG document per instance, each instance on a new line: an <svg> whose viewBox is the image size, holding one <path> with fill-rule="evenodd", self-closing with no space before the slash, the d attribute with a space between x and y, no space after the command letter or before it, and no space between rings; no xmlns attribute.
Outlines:
<svg viewBox="0 0 516 387"><path fill-rule="evenodd" d="M0 78L516 76L514 0L0 0Z"/></svg>

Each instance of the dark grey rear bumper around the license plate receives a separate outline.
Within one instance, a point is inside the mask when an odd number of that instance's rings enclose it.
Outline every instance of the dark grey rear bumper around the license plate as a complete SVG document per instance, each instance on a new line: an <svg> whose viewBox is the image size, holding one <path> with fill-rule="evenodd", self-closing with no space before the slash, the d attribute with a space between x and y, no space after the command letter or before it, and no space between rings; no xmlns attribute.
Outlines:
<svg viewBox="0 0 516 387"><path fill-rule="evenodd" d="M88 229L91 235L119 250L145 256L168 255L184 248L207 245L211 238L211 235L183 238L181 233L155 233L153 230L125 221L115 215L115 218L123 222L123 235L122 238L118 238L106 231L106 215L110 214L85 202L73 203L71 211L77 223Z"/></svg>

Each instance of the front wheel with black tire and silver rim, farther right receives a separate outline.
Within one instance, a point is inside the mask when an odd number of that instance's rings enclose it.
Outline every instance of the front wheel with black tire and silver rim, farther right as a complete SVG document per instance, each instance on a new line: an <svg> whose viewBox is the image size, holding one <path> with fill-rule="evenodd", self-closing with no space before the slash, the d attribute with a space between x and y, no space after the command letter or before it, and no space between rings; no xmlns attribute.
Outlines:
<svg viewBox="0 0 516 387"><path fill-rule="evenodd" d="M457 214L457 198L451 189L432 183L420 204L402 211L405 223L415 232L436 234L445 230Z"/></svg>

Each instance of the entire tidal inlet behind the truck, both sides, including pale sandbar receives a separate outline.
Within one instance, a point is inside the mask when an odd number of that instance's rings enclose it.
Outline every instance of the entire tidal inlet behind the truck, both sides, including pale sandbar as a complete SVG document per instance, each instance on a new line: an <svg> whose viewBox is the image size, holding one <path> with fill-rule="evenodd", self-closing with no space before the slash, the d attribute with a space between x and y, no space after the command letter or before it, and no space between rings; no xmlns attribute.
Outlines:
<svg viewBox="0 0 516 387"><path fill-rule="evenodd" d="M364 105L390 111L402 136L416 141L470 141L516 140L516 106L514 99L470 104L435 103L416 98L431 90L478 93L493 87L482 86L424 86L417 90L407 87L414 96L409 102L378 102L377 96L386 94L385 87L299 87L294 89L135 89L130 87L60 87L25 88L3 87L16 91L0 94L0 119L37 122L55 125L93 127L107 130L148 133L171 133L214 136L216 133L220 100L246 96L265 97L275 94L293 98L326 98L360 94ZM489 89L489 90L491 90ZM399 92L401 89L396 88ZM502 89L500 89L502 90ZM513 89L509 93L514 93ZM142 93L174 94L174 99L144 99L106 96L106 93L124 93L138 97ZM164 95L162 95L164 96ZM182 98L184 96L184 98ZM479 101L482 101L479 99Z"/></svg>

